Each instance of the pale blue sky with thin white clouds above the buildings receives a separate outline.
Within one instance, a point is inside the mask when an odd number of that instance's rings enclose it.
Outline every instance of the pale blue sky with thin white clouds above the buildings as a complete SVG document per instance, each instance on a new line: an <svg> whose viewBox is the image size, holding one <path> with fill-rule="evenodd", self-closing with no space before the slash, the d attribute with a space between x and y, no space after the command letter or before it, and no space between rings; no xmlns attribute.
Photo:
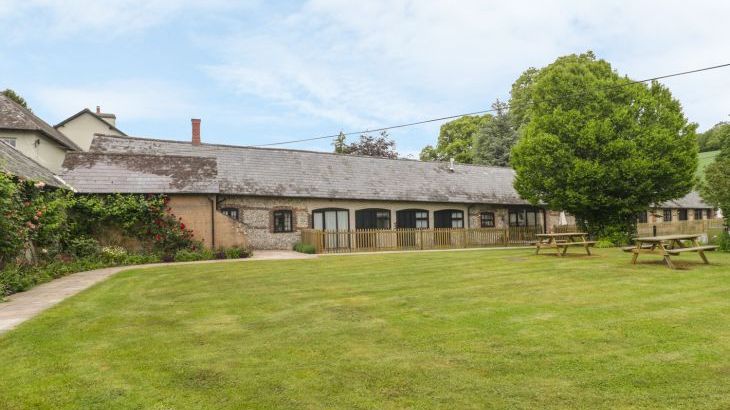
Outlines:
<svg viewBox="0 0 730 410"><path fill-rule="evenodd" d="M722 1L0 0L0 89L55 124L260 145L489 109L528 67L593 50L644 79L730 63ZM662 81L700 130L730 68ZM402 156L442 123L392 130ZM355 137L351 137L353 139ZM285 145L331 150L330 140Z"/></svg>

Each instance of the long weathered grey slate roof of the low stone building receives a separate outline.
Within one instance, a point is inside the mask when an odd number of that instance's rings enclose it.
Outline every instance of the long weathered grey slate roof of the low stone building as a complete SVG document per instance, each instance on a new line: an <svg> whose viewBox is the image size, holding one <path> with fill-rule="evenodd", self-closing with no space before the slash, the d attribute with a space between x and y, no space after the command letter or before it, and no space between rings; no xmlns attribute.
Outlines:
<svg viewBox="0 0 730 410"><path fill-rule="evenodd" d="M176 174L177 166L186 171ZM456 164L452 172L439 162L108 135L95 136L89 153L67 155L62 177L88 193L527 204L511 168Z"/></svg>

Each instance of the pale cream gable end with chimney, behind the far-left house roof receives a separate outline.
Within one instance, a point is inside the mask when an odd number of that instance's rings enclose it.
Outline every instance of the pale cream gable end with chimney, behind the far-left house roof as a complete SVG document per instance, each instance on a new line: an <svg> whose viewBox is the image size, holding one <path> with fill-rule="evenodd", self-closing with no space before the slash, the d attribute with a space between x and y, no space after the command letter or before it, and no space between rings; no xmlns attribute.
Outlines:
<svg viewBox="0 0 730 410"><path fill-rule="evenodd" d="M54 126L78 145L82 151L88 151L95 134L125 136L116 126L117 117L111 113L101 112L96 106L96 112L88 108L77 112Z"/></svg>

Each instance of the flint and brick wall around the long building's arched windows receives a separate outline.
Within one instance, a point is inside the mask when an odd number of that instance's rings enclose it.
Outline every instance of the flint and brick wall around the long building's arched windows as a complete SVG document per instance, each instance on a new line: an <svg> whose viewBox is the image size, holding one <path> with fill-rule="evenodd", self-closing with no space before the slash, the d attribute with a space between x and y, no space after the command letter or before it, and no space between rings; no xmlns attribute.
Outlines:
<svg viewBox="0 0 730 410"><path fill-rule="evenodd" d="M396 226L397 211L403 209L424 209L429 211L429 227L434 226L434 211L455 209L464 212L466 227L480 226L481 212L494 212L495 225L508 225L508 208L504 205L467 205L453 203L358 201L340 199L307 199L279 197L221 196L218 208L238 209L239 221L243 224L249 244L254 249L291 249L300 240L300 229L312 225L312 211L322 208L343 208L349 211L350 229L355 229L355 211L367 208L390 210L391 227ZM273 212L277 209L292 211L294 232L274 233Z"/></svg>

